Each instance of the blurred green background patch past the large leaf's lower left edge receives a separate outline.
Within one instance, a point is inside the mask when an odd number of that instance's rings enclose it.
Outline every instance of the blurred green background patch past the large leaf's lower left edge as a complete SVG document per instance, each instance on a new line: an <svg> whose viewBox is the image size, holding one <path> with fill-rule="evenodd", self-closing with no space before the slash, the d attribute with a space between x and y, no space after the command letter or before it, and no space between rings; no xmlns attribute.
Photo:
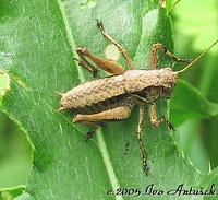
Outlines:
<svg viewBox="0 0 218 200"><path fill-rule="evenodd" d="M26 185L32 167L31 145L2 111L0 121L0 188Z"/></svg>

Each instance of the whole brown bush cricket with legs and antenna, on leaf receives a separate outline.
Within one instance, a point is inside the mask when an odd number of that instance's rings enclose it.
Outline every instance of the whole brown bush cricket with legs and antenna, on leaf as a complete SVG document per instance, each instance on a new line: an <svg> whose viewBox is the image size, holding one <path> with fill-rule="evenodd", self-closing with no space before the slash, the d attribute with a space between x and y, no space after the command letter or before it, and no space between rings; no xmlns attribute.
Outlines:
<svg viewBox="0 0 218 200"><path fill-rule="evenodd" d="M86 58L112 75L80 84L66 93L56 92L61 96L61 107L58 110L73 111L75 114L73 118L74 123L93 125L93 129L87 133L88 140L99 126L102 126L105 122L120 121L128 118L133 106L138 105L140 117L136 137L143 156L143 169L147 174L149 168L145 146L142 141L145 103L148 104L148 115L154 127L159 127L166 122L170 129L174 130L173 125L166 117L157 118L155 102L160 97L170 97L177 84L179 73L189 69L218 40L194 60L180 59L164 45L159 43L154 44L150 50L149 69L135 69L126 50L105 32L102 23L98 20L97 26L101 34L118 47L126 60L130 70L125 70L113 60L93 55L85 47L76 48L80 64L92 71L94 77L97 73L97 68L90 64ZM175 62L186 62L189 64L180 71L172 71L169 67L158 69L158 50L161 50Z"/></svg>

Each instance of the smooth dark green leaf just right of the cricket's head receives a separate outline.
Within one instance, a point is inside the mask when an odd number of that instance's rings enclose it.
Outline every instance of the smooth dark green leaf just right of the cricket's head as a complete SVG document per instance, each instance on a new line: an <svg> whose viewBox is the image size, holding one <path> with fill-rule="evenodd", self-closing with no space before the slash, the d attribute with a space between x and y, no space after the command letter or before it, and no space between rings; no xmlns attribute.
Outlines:
<svg viewBox="0 0 218 200"><path fill-rule="evenodd" d="M218 116L218 104L207 101L194 86L180 80L173 92L171 121L179 126L190 118L209 118ZM178 116L179 117L173 117Z"/></svg>

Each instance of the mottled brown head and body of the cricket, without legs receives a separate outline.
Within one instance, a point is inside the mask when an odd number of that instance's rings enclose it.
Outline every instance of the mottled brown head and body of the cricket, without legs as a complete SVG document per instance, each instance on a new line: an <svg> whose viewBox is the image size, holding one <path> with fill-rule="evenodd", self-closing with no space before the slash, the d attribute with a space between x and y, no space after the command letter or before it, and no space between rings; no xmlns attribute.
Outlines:
<svg viewBox="0 0 218 200"><path fill-rule="evenodd" d="M73 87L62 95L61 105L78 114L95 114L122 105L133 105L133 98L137 97L132 94L141 94L140 97L150 102L170 94L177 77L178 73L170 68L128 70L120 75L93 80ZM146 93L153 87L157 89L156 93L148 97Z"/></svg>

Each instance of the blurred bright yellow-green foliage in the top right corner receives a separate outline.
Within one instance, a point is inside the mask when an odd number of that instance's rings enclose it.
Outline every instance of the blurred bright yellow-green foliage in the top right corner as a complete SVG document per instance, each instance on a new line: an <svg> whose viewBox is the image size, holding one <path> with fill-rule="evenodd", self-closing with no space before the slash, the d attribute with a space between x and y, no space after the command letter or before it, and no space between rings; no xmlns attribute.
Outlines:
<svg viewBox="0 0 218 200"><path fill-rule="evenodd" d="M181 40L182 34L184 34L185 37L182 38L184 44L190 44L199 51L205 50L208 44L217 40L218 32L216 24L218 23L218 13L216 4L216 1L207 0L201 0L201 2L193 0L192 3L189 0L180 1L174 9L174 14L181 17L175 20L177 34L180 33L178 38ZM208 12L209 14L207 14ZM216 52L217 47L210 51Z"/></svg>

